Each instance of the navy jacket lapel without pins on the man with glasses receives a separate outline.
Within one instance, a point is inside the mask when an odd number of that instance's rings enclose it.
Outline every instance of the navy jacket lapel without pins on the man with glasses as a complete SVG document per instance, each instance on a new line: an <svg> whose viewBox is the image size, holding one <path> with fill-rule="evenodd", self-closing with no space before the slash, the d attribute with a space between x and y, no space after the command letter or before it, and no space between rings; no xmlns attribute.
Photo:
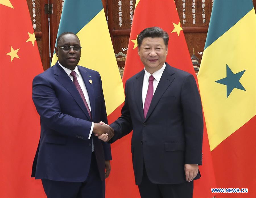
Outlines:
<svg viewBox="0 0 256 198"><path fill-rule="evenodd" d="M90 120L90 116L88 114L88 111L87 111L87 109L84 105L84 102L83 102L79 92L77 91L77 88L76 88L75 84L69 78L67 73L59 66L58 63L56 63L53 67L54 67L54 72L53 73L55 75L57 75L55 77L55 79L58 80L63 85L63 87L66 88L69 91L69 93L73 96L73 98L75 99L75 101L77 102L79 107L83 110L83 112L86 114L86 116Z"/></svg>

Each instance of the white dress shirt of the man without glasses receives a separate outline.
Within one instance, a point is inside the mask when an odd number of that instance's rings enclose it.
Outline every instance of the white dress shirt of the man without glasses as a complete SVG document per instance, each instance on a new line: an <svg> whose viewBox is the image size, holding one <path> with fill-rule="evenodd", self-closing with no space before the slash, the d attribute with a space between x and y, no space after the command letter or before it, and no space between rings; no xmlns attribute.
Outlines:
<svg viewBox="0 0 256 198"><path fill-rule="evenodd" d="M153 95L156 91L156 88L158 86L158 83L160 81L160 78L162 77L162 74L164 72L164 69L166 67L166 64L164 63L163 67L161 67L159 70L157 70L156 72L154 72L152 74L152 76L154 76L154 80L153 80ZM142 103L143 103L143 108L144 108L144 103L145 103L145 99L146 99L146 95L147 95L147 92L148 92L148 79L149 79L149 76L151 76L150 73L148 73L146 71L146 69L144 69L145 71L145 74L144 74L144 79L143 79L143 84L142 84Z"/></svg>

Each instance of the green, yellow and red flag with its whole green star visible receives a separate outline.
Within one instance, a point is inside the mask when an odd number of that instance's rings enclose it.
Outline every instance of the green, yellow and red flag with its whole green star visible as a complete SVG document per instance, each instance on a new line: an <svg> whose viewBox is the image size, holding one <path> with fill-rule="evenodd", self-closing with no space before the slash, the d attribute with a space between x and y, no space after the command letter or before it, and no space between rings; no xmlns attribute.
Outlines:
<svg viewBox="0 0 256 198"><path fill-rule="evenodd" d="M198 82L222 197L256 197L256 17L251 0L214 0Z"/></svg>

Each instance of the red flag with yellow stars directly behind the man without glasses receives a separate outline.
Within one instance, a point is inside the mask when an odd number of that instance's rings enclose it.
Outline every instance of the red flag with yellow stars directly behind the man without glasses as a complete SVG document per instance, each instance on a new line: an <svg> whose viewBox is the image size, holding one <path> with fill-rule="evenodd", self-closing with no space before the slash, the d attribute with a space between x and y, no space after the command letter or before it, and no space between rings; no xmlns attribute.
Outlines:
<svg viewBox="0 0 256 198"><path fill-rule="evenodd" d="M124 86L128 78L144 68L138 56L137 35L143 29L153 26L161 27L169 34L166 61L173 67L193 74L197 81L175 2L165 0L137 0L123 74ZM135 186L130 148L131 134L112 144L112 175L115 177L115 181L111 182L114 186L108 185L106 187L107 197L140 197L138 187ZM193 197L213 197L214 194L211 193L210 189L215 188L216 183L206 127L204 127L203 135L203 165L199 167L199 170L202 177L194 181ZM119 172L119 176L115 176L117 172ZM111 179L110 177L109 180Z"/></svg>

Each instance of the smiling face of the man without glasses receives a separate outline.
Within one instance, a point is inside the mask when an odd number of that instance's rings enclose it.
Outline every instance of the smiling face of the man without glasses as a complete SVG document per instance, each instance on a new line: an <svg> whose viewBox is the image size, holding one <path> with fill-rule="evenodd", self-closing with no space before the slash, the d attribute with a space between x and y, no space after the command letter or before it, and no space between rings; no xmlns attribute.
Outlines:
<svg viewBox="0 0 256 198"><path fill-rule="evenodd" d="M146 71L150 74L158 71L166 61L168 48L161 37L146 37L142 40L138 54Z"/></svg>

